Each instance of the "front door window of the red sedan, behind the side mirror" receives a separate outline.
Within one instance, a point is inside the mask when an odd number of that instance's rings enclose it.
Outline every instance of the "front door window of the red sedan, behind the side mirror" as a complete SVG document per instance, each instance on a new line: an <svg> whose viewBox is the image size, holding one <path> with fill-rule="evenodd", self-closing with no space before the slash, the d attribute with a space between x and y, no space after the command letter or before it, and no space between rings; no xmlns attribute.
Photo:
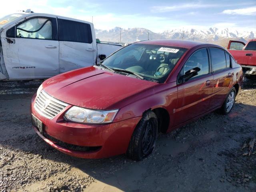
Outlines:
<svg viewBox="0 0 256 192"><path fill-rule="evenodd" d="M208 52L206 48L200 49L195 53L193 53L192 56L190 56L190 58L186 61L186 63L182 68L182 71L181 71L182 75L184 75L187 71L195 67L199 67L200 71L194 77L209 73L209 59L208 59Z"/></svg>

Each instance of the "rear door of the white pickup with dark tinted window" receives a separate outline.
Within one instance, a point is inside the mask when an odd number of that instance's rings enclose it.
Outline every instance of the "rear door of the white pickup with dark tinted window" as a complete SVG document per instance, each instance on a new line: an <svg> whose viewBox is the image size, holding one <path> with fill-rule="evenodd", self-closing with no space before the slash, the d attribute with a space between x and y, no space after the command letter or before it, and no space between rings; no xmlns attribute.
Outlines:
<svg viewBox="0 0 256 192"><path fill-rule="evenodd" d="M90 23L58 18L58 35L60 73L93 65L96 48Z"/></svg>

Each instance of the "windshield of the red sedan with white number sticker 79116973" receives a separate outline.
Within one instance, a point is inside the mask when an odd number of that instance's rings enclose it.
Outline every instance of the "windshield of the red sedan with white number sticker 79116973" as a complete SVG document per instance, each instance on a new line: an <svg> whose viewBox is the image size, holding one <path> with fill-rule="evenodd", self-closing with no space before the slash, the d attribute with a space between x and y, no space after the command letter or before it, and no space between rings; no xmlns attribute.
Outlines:
<svg viewBox="0 0 256 192"><path fill-rule="evenodd" d="M122 48L103 60L102 64L120 74L125 74L126 70L138 74L144 80L163 83L186 50L180 47L137 43Z"/></svg>

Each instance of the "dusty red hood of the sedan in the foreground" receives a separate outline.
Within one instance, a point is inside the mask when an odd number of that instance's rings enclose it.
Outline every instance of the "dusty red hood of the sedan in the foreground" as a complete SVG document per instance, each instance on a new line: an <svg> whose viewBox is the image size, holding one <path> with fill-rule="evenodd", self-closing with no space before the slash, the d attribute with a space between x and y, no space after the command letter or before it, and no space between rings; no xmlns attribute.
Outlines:
<svg viewBox="0 0 256 192"><path fill-rule="evenodd" d="M43 83L43 88L68 104L104 110L156 84L91 66L54 76Z"/></svg>

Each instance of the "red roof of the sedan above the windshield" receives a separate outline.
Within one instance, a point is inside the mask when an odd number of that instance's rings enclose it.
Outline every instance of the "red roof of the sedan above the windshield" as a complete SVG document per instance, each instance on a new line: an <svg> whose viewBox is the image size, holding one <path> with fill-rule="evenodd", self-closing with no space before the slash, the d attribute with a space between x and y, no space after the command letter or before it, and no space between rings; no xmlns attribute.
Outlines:
<svg viewBox="0 0 256 192"><path fill-rule="evenodd" d="M217 45L214 44L208 44L208 43L202 43L202 42L196 42L196 41L187 41L187 40L170 40L170 39L163 39L163 40L148 40L148 41L140 41L137 43L141 44L154 44L154 45L163 45L163 46L174 46L174 47L182 47L182 48L193 48L200 45L205 46L214 46Z"/></svg>

